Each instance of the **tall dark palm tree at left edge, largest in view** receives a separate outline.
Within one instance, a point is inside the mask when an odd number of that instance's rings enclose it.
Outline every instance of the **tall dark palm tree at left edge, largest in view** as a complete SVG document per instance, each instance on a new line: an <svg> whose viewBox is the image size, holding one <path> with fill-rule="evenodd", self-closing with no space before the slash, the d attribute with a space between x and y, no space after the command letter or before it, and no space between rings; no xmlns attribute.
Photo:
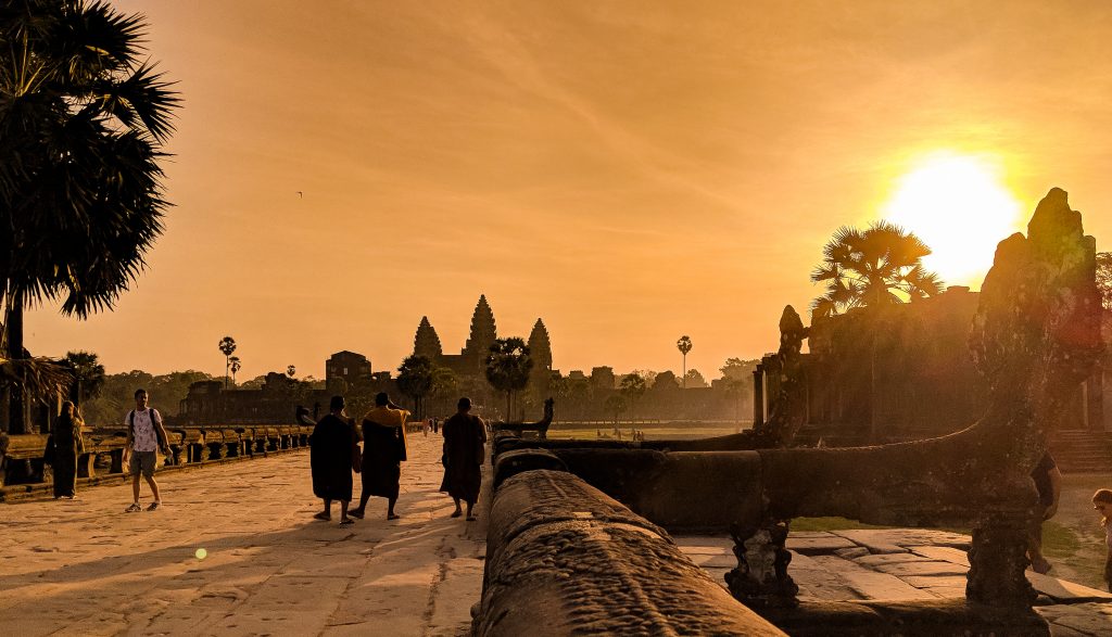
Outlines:
<svg viewBox="0 0 1112 637"><path fill-rule="evenodd" d="M111 309L162 231L162 145L177 93L141 61L142 17L106 2L0 6L0 351L26 358L23 309ZM18 384L17 384L18 385ZM24 387L24 390L28 389ZM13 431L24 391L10 395Z"/></svg>

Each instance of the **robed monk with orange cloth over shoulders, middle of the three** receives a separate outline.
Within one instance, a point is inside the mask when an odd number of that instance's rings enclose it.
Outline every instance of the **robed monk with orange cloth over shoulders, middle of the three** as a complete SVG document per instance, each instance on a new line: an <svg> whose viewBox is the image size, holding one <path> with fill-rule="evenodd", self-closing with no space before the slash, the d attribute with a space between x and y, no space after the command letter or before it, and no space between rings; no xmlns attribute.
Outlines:
<svg viewBox="0 0 1112 637"><path fill-rule="evenodd" d="M375 407L363 418L363 492L351 515L363 518L371 496L387 499L386 519L396 520L401 462L406 460L406 418L409 412L390 402L385 392L375 396Z"/></svg>

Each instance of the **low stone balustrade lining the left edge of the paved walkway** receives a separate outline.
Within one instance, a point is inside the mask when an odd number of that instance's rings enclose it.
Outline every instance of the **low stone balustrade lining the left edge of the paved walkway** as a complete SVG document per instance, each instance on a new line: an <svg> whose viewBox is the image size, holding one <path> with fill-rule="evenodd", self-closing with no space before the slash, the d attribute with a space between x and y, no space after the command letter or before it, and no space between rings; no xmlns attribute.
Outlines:
<svg viewBox="0 0 1112 637"><path fill-rule="evenodd" d="M312 427L306 425L169 427L170 452L161 457L165 467L203 465L225 459L251 458L309 445ZM0 487L49 484L44 461L46 434L0 437ZM123 447L127 430L122 427L97 427L82 430L85 452L78 458L78 478L93 478L127 472ZM0 492L0 499L6 497Z"/></svg>

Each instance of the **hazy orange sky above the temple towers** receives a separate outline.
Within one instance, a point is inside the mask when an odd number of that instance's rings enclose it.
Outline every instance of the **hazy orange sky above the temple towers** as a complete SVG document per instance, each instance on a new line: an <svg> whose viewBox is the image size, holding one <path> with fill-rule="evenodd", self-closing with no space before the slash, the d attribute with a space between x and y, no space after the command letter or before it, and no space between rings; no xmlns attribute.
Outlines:
<svg viewBox="0 0 1112 637"><path fill-rule="evenodd" d="M1109 249L1103 0L115 4L183 97L175 207L116 311L27 317L33 354L109 372L222 374L226 335L241 379L394 370L423 315L458 351L485 293L564 372L678 372L688 335L709 379L940 150L1025 215L1064 188Z"/></svg>

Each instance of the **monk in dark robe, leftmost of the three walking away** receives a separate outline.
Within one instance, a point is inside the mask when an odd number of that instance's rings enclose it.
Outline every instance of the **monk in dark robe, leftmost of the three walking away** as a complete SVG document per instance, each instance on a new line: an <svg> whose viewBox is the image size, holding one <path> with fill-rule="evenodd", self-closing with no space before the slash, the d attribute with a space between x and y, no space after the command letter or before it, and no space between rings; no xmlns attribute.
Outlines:
<svg viewBox="0 0 1112 637"><path fill-rule="evenodd" d="M309 467L312 471L312 494L325 501L325 510L312 516L332 519L332 500L340 502L340 526L355 524L348 517L351 501L351 469L359 449L356 432L344 414L344 397L332 396L329 414L317 421L310 439Z"/></svg>

